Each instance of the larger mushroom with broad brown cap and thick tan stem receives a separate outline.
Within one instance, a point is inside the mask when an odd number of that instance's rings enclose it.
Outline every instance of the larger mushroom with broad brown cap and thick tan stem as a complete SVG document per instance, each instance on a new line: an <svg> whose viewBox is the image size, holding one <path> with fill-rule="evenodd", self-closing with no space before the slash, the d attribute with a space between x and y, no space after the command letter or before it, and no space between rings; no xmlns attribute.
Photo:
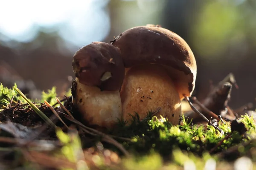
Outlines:
<svg viewBox="0 0 256 170"><path fill-rule="evenodd" d="M137 112L143 119L148 111L161 107L157 115L176 125L183 95L191 96L197 74L186 41L159 25L147 25L124 31L111 45L119 48L125 65L122 118L129 120Z"/></svg>

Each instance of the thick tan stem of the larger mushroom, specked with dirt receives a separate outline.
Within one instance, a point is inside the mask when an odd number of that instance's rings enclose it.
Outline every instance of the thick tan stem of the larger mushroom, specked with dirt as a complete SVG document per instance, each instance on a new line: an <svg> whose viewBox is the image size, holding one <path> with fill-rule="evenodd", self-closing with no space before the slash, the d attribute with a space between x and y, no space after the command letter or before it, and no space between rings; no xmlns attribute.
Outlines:
<svg viewBox="0 0 256 170"><path fill-rule="evenodd" d="M161 107L157 117L167 117L169 122L177 125L181 115L179 94L172 79L160 65L140 65L126 71L121 89L122 118L130 120L137 112L140 118L148 111Z"/></svg>

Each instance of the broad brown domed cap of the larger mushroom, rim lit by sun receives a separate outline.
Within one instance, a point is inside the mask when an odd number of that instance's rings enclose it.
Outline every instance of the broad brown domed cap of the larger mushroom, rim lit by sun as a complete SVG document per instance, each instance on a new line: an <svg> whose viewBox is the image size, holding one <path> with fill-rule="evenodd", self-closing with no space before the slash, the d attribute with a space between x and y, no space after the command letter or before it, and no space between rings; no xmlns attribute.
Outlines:
<svg viewBox="0 0 256 170"><path fill-rule="evenodd" d="M111 44L121 51L125 68L147 63L164 65L180 99L194 91L197 74L194 54L174 32L160 26L138 26L124 31Z"/></svg>

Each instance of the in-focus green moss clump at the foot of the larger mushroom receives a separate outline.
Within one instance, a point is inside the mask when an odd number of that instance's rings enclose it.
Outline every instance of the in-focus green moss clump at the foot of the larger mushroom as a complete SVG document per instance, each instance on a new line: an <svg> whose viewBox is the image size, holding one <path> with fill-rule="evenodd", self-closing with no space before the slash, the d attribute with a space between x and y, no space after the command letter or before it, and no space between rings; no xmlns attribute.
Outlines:
<svg viewBox="0 0 256 170"><path fill-rule="evenodd" d="M255 133L252 117L245 115L240 121L249 129L247 133ZM131 138L132 142L123 142L123 145L127 150L137 154L148 154L153 150L166 157L170 156L174 149L181 149L202 155L231 133L230 122L225 125L219 122L219 127L223 133L210 125L192 125L184 116L182 125L172 125L163 117L148 116L145 121L139 121L138 116L134 116L131 125L121 124L118 132L114 134ZM246 140L243 135L235 131L213 153L226 150Z"/></svg>

